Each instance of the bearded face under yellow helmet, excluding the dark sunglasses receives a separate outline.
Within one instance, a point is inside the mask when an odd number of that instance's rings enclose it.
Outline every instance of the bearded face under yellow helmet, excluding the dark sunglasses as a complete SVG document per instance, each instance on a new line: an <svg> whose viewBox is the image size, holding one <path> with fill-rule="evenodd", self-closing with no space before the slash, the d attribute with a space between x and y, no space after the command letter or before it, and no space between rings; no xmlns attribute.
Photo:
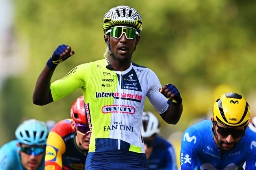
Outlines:
<svg viewBox="0 0 256 170"><path fill-rule="evenodd" d="M226 128L225 126L215 122L218 126L222 127L222 128ZM237 130L243 130L244 128L237 128ZM229 151L229 150L232 150L236 145L237 143L239 143L241 137L237 137L237 138L234 138L232 136L232 134L229 134L227 136L222 136L221 134L219 134L217 132L218 130L218 127L216 125L213 125L213 130L214 130L214 141L217 145L217 147L219 148L219 150L221 150L221 152L226 152L226 151Z"/></svg>

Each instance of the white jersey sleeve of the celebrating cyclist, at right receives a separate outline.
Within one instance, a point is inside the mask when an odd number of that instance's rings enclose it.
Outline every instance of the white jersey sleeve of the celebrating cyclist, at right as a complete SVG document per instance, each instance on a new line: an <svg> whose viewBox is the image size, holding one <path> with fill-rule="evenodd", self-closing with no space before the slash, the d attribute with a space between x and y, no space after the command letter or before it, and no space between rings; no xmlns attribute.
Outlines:
<svg viewBox="0 0 256 170"><path fill-rule="evenodd" d="M148 82L148 100L150 101L156 112L162 114L167 110L169 106L169 104L167 103L168 99L159 92L159 89L161 88L161 83L157 75L153 71L151 71Z"/></svg>

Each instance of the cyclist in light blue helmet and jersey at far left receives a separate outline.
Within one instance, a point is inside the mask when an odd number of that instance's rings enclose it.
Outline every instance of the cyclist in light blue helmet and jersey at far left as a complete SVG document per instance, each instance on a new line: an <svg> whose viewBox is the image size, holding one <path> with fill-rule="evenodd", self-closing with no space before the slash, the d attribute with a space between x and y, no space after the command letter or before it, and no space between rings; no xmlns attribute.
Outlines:
<svg viewBox="0 0 256 170"><path fill-rule="evenodd" d="M22 122L15 131L17 139L0 148L0 170L43 170L47 135L44 122Z"/></svg>

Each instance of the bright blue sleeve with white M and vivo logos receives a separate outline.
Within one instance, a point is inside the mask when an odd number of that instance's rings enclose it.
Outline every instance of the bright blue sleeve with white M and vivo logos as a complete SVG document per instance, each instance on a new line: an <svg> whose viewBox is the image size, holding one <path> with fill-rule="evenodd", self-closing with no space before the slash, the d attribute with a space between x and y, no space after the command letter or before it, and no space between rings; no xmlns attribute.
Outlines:
<svg viewBox="0 0 256 170"><path fill-rule="evenodd" d="M199 133L193 126L185 130L181 140L181 170L197 169L197 146L200 146L201 141Z"/></svg>

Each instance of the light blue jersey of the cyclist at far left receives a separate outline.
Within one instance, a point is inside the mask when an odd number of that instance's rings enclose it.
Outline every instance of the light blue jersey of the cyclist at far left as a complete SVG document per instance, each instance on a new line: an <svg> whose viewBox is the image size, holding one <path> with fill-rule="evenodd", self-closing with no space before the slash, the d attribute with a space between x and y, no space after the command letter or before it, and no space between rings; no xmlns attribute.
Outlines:
<svg viewBox="0 0 256 170"><path fill-rule="evenodd" d="M4 144L0 148L0 170L24 170L20 162L20 154L18 153L17 140ZM44 159L43 159L44 160ZM44 161L37 170L44 170Z"/></svg>

